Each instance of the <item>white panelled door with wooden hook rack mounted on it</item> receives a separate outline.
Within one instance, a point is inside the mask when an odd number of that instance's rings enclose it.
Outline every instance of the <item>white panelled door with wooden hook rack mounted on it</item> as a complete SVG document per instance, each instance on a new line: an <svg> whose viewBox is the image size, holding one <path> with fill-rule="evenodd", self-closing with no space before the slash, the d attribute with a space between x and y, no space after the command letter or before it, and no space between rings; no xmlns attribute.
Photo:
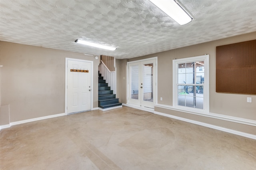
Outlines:
<svg viewBox="0 0 256 170"><path fill-rule="evenodd" d="M72 71L71 71L72 70ZM84 71L86 70L86 71ZM67 113L91 110L92 63L68 60Z"/></svg>

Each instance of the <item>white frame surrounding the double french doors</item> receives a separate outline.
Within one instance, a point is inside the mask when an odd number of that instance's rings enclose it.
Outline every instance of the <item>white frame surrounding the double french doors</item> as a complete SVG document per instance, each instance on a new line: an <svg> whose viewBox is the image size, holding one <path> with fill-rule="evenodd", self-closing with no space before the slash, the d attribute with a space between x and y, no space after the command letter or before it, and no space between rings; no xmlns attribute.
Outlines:
<svg viewBox="0 0 256 170"><path fill-rule="evenodd" d="M146 58L146 59L140 59L140 60L136 60L136 61L129 61L129 62L127 62L127 66L126 66L126 77L127 77L127 88L126 88L126 100L127 100L127 103L126 103L126 105L130 105L131 106L131 104L129 103L129 96L130 96L130 94L129 94L129 92L130 92L130 90L129 90L129 88L130 88L130 75L129 75L129 63L136 63L136 62L141 62L141 61L147 61L147 60L151 60L151 59L156 59L156 73L155 73L155 75L156 75L156 82L154 82L154 83L156 83L156 96L155 96L155 103L154 104L156 104L156 103L158 103L158 88L157 88L157 85L158 85L158 81L157 81L157 76L158 76L158 74L157 74L157 57L151 57L151 58ZM133 105L132 105L133 106ZM136 107L139 107L139 106L134 106L135 108ZM139 107L139 108L143 108L143 107ZM150 108L148 108L148 110L151 110Z"/></svg>

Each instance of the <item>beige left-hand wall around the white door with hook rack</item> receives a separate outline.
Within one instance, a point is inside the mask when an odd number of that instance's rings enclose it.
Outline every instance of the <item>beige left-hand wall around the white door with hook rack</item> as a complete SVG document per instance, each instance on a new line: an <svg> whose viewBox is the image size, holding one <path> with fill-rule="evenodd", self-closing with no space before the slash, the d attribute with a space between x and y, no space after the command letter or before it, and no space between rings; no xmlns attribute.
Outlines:
<svg viewBox="0 0 256 170"><path fill-rule="evenodd" d="M93 107L98 107L99 60L81 53L0 42L1 106L10 122L65 113L65 58L94 61ZM6 117L5 113L0 113ZM2 125L2 124L1 124Z"/></svg>

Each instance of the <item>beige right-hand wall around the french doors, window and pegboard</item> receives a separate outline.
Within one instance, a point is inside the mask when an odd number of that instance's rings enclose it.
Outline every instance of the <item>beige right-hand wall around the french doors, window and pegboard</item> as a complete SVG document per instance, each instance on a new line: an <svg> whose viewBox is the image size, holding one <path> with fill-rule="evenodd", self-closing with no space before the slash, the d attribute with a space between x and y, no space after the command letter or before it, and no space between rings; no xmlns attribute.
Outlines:
<svg viewBox="0 0 256 170"><path fill-rule="evenodd" d="M228 115L238 118L256 120L256 95L244 95L244 94L228 94L228 93L216 93L216 46L226 45L237 42L244 42L248 40L255 40L256 32L250 34L244 34L231 38L225 38L222 40L216 40L207 43L201 43L188 47L182 47L179 49L173 49L160 53L150 54L142 57L136 57L132 59L124 59L120 61L122 65L121 75L118 77L118 85L122 85L124 89L124 81L122 77L126 76L127 61L135 61L138 59L145 59L149 57L158 57L158 103L163 105L172 106L172 60L174 58L180 59L185 57L193 57L204 54L210 55L210 113L217 113L222 115ZM255 77L253 77L255 78ZM160 97L163 98L160 101ZM252 97L252 103L247 103L247 97ZM122 93L122 102L126 103L126 93ZM227 123L227 121L220 121L217 119L210 119L206 117L198 117L188 113L176 113L168 109L161 109L155 107L155 111L166 113L170 115L176 115L195 121L200 121L220 127L231 128L234 130L242 130L244 132L256 134L256 128L253 126L246 126L246 128L237 125L237 123ZM246 130L245 130L246 129Z"/></svg>

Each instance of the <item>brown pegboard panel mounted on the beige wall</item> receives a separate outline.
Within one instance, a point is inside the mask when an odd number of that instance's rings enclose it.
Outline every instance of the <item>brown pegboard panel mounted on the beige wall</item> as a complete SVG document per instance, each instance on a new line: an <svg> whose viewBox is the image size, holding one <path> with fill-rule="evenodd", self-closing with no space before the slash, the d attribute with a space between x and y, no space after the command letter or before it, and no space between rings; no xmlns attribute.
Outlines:
<svg viewBox="0 0 256 170"><path fill-rule="evenodd" d="M256 94L256 40L216 47L216 92Z"/></svg>

